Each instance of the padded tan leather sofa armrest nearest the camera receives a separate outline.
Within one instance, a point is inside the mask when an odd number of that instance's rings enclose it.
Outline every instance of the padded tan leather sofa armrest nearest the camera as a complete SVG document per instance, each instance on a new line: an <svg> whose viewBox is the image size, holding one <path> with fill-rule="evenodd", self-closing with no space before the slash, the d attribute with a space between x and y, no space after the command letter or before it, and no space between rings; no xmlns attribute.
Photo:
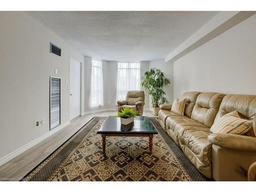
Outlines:
<svg viewBox="0 0 256 192"><path fill-rule="evenodd" d="M229 148L230 150L256 152L255 137L214 133L208 136L208 140L212 144Z"/></svg>

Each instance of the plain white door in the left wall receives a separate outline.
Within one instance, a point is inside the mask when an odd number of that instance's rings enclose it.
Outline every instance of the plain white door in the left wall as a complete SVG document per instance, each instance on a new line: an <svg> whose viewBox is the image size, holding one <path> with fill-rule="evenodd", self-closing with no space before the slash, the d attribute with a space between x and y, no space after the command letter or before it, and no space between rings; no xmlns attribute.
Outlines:
<svg viewBox="0 0 256 192"><path fill-rule="evenodd" d="M80 115L80 63L70 58L70 119Z"/></svg>

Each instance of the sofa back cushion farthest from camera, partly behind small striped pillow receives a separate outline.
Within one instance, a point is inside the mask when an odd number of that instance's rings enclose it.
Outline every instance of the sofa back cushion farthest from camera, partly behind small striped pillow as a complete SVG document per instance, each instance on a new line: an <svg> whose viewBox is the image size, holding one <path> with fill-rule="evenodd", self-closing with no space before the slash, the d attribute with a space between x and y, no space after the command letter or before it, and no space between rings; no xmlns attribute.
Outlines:
<svg viewBox="0 0 256 192"><path fill-rule="evenodd" d="M187 117L191 117L191 113L193 111L193 108L196 104L196 100L200 92L198 91L191 91L191 92L185 92L182 95L182 99L186 99L186 106L185 106L185 111L184 115Z"/></svg>

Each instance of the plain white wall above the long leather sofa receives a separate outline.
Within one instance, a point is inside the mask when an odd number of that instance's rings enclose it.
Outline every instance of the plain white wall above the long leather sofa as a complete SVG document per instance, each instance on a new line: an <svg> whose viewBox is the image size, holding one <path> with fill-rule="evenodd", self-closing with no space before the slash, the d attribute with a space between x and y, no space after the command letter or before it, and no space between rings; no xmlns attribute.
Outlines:
<svg viewBox="0 0 256 192"><path fill-rule="evenodd" d="M174 62L174 97L187 91L256 95L256 15Z"/></svg>

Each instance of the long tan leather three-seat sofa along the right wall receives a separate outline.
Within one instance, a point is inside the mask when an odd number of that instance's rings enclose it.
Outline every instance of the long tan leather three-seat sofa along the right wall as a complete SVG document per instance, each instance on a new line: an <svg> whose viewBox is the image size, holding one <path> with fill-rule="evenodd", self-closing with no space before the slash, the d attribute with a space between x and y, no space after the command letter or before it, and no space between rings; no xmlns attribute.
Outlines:
<svg viewBox="0 0 256 192"><path fill-rule="evenodd" d="M158 120L164 131L181 147L187 158L207 178L217 181L246 180L242 168L248 170L256 161L256 127L244 136L213 134L214 121L237 110L242 118L256 115L255 95L186 92L184 116L171 112L172 104L160 106Z"/></svg>

